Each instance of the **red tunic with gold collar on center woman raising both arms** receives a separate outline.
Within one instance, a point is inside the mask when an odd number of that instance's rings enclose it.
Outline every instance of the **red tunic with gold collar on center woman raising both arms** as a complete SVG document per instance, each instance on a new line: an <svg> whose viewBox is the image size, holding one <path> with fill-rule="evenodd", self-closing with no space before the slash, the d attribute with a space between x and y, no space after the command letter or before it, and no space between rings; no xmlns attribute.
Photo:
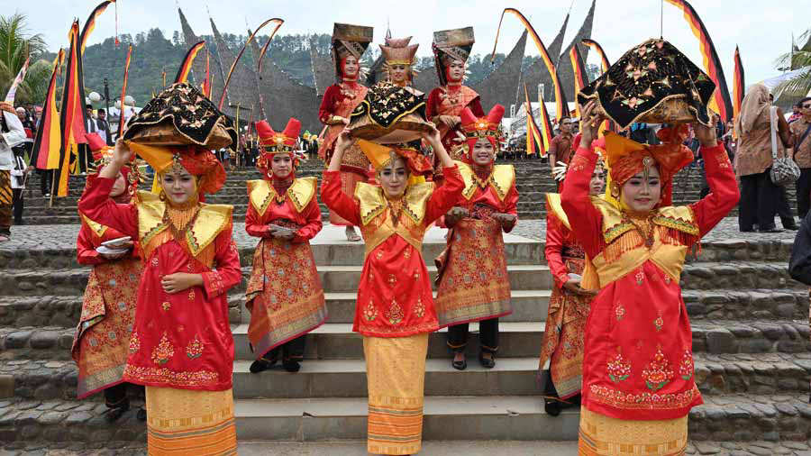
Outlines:
<svg viewBox="0 0 811 456"><path fill-rule="evenodd" d="M411 185L398 200L365 183L358 184L354 197L347 196L338 171L323 173L324 204L360 226L366 242L353 331L404 337L439 329L422 247L425 231L456 203L463 187L457 167L444 173L442 186Z"/></svg>

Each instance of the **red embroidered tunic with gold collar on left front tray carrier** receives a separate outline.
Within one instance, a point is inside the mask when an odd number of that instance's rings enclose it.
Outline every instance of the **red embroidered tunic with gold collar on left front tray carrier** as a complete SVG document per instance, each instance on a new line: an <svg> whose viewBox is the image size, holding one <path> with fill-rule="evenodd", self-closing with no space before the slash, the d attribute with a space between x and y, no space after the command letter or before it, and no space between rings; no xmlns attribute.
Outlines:
<svg viewBox="0 0 811 456"><path fill-rule="evenodd" d="M175 209L147 192L129 205L108 198L114 180L88 181L79 211L132 236L144 259L130 356L123 380L150 387L226 390L233 338L225 292L241 281L232 240L232 206ZM201 274L204 285L169 294L161 278Z"/></svg>

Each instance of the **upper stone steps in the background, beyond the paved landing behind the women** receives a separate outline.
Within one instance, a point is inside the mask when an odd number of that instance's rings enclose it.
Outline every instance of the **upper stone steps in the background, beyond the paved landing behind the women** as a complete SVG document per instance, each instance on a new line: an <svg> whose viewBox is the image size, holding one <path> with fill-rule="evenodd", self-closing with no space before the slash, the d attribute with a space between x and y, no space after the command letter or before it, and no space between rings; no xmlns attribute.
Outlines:
<svg viewBox="0 0 811 456"><path fill-rule="evenodd" d="M518 193L521 198L518 202L518 213L523 219L540 219L546 215L544 195L547 192L557 191L556 184L549 174L549 167L539 160L517 160L508 162L515 166ZM299 169L299 176L316 176L321 178L323 164L320 160L308 160ZM228 178L214 196L208 196L207 202L227 204L234 206L234 220L243 221L248 207L248 195L245 181L260 178L259 171L255 169L235 169L228 173ZM54 198L53 205L49 205L47 198L40 193L40 176L36 173L29 179L28 189L25 193L24 220L27 224L51 223L79 223L77 215L77 200L85 186L85 178L71 176L69 178L68 196ZM149 183L151 186L151 182ZM141 184L142 189L149 187ZM676 204L692 202L698 199L702 186L702 178L696 167L682 170L677 177L674 187L673 201ZM791 207L795 207L794 189L788 188L788 199ZM319 198L320 201L320 198ZM324 219L327 216L326 206L321 204Z"/></svg>

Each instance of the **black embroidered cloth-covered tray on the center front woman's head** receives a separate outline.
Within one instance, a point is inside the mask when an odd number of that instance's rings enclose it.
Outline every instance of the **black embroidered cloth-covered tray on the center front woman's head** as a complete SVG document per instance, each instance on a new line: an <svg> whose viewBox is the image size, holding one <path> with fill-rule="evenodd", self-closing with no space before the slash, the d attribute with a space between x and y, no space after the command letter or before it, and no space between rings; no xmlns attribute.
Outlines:
<svg viewBox="0 0 811 456"><path fill-rule="evenodd" d="M425 120L424 98L411 87L390 82L376 84L351 114L352 137L379 144L419 139L421 132L433 129L433 124Z"/></svg>

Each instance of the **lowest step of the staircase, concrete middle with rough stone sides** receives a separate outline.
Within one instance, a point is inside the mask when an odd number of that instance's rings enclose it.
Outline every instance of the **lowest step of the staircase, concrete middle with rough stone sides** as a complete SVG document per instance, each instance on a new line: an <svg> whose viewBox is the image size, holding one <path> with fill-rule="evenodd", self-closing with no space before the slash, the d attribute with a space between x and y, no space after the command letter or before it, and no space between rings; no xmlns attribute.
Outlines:
<svg viewBox="0 0 811 456"><path fill-rule="evenodd" d="M811 406L805 393L707 395L690 412L693 442L806 441ZM323 442L366 438L367 399L239 399L240 441ZM114 424L103 404L76 401L0 402L3 442L145 442L146 426L131 409ZM540 397L425 397L423 439L431 441L574 441L579 412L543 412Z"/></svg>

